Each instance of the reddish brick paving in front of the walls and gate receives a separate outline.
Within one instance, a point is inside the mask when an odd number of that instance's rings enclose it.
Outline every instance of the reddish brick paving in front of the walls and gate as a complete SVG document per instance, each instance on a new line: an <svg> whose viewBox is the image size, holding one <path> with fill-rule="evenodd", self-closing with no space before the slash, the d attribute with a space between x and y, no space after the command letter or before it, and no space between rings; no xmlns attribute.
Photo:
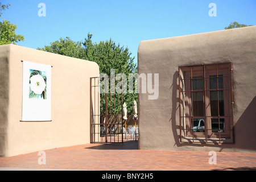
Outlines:
<svg viewBox="0 0 256 182"><path fill-rule="evenodd" d="M187 171L256 170L255 153L217 152L217 164L209 164L209 152L137 150L138 141L124 144L82 144L45 150L46 164L38 152L0 158L0 170L97 170Z"/></svg>

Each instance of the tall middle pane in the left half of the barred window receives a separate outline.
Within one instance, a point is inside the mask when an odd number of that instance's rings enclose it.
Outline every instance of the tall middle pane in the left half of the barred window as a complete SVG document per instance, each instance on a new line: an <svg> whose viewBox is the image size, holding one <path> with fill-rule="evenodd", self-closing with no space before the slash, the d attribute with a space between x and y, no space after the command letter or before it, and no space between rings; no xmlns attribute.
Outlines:
<svg viewBox="0 0 256 182"><path fill-rule="evenodd" d="M193 92L193 116L204 115L203 92Z"/></svg>

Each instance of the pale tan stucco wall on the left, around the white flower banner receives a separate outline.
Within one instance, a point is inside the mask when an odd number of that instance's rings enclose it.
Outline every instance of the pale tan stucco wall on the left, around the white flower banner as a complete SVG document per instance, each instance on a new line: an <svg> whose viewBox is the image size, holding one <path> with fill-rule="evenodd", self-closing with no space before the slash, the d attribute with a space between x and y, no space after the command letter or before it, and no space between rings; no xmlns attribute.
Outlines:
<svg viewBox="0 0 256 182"><path fill-rule="evenodd" d="M20 122L21 60L52 65L51 122ZM92 61L15 46L0 46L0 155L13 156L90 142L90 77L99 75Z"/></svg>

